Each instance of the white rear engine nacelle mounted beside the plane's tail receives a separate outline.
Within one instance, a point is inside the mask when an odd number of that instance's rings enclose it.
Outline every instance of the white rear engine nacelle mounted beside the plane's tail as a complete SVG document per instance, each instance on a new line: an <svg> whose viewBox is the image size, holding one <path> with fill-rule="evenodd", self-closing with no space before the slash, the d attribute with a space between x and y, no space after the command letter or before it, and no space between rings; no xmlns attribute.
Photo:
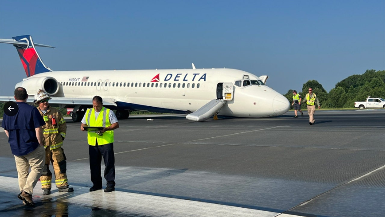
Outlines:
<svg viewBox="0 0 385 217"><path fill-rule="evenodd" d="M35 95L39 89L44 90L48 95L55 95L59 92L59 83L52 77L35 77L27 78L16 84L15 88L23 87L27 90L28 95Z"/></svg>

